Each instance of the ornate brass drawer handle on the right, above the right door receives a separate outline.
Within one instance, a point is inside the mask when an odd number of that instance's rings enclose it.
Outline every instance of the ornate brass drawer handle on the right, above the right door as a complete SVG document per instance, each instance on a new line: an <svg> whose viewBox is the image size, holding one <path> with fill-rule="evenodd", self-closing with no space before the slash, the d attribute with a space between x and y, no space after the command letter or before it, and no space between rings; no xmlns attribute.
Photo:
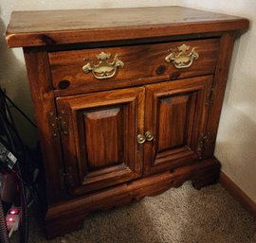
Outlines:
<svg viewBox="0 0 256 243"><path fill-rule="evenodd" d="M177 53L171 49L171 54L169 54L165 61L173 62L176 68L186 68L192 65L192 61L197 60L199 58L199 54L195 52L196 47L192 47L190 51L190 46L186 45L185 43L181 44L177 47Z"/></svg>

